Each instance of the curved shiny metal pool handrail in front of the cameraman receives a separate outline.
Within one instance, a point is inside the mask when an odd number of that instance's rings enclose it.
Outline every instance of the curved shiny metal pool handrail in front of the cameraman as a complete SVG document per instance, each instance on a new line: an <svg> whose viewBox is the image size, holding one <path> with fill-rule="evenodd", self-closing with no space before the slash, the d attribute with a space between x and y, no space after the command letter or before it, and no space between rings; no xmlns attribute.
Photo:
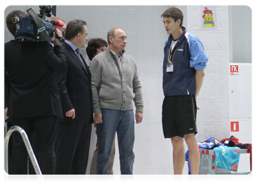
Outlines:
<svg viewBox="0 0 256 181"><path fill-rule="evenodd" d="M24 129L22 129L18 125L11 127L8 130L8 132L6 133L5 138L4 138L4 181L8 181L8 143L9 143L11 134L15 131L17 131L21 134L21 137L24 141L25 147L27 148L27 151L28 151L28 156L30 157L31 163L34 167L34 171L36 172L36 176L38 177L38 180L44 181L44 177L42 176L42 172L38 165L38 161L36 160L36 156L34 156L34 152L32 150L30 142L28 140L28 136L27 136L26 132L24 131Z"/></svg>

